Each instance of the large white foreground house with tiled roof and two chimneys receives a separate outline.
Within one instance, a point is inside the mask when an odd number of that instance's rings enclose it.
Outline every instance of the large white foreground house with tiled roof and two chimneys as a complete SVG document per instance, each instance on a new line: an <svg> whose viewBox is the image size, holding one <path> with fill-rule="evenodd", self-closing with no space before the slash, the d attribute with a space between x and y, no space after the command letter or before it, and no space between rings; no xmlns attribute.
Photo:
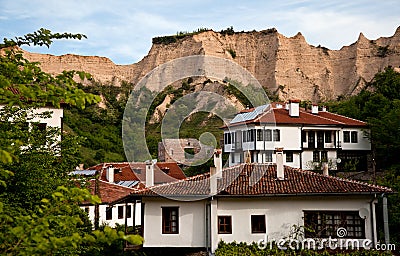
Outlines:
<svg viewBox="0 0 400 256"><path fill-rule="evenodd" d="M277 164L223 170L219 163L210 173L145 188L114 203L141 202L147 249L213 253L221 240L279 241L294 226L312 229L304 233L308 239L377 243L375 204L377 196L393 193L390 188L284 166L279 150L277 158Z"/></svg>

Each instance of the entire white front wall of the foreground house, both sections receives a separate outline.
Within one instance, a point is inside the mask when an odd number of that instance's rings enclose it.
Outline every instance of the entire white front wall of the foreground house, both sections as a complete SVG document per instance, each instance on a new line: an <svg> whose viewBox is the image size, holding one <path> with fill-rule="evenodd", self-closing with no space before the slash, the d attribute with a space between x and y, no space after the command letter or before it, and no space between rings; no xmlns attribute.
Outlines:
<svg viewBox="0 0 400 256"><path fill-rule="evenodd" d="M372 240L370 197L259 197L214 198L210 217L211 248L219 241L258 242L287 237L294 225L304 226L303 211L359 211L365 209L366 239ZM144 247L206 247L207 200L181 202L145 198ZM179 207L179 234L162 234L162 207ZM251 215L266 216L266 233L251 233ZM217 216L232 217L232 234L218 234ZM362 239L361 239L362 240Z"/></svg>

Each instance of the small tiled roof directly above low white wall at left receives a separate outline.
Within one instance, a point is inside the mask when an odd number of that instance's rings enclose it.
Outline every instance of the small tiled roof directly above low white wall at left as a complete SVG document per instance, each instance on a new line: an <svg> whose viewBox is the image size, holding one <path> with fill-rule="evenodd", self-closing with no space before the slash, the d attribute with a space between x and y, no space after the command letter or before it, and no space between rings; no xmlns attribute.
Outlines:
<svg viewBox="0 0 400 256"><path fill-rule="evenodd" d="M92 195L95 195L95 184L96 180L91 179L89 180L89 191L92 193ZM99 193L97 194L102 203L111 203L114 202L115 200L127 196L131 194L132 192L135 192L136 190L133 188L128 188L116 184L112 184L106 181L99 180L98 181L99 185ZM83 204L88 203L84 202Z"/></svg>

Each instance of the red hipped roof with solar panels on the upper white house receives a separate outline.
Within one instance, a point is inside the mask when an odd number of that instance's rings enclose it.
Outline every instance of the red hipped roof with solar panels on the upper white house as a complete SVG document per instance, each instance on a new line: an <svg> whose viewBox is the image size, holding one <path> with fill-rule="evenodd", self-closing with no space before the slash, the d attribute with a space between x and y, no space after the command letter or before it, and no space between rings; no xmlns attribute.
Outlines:
<svg viewBox="0 0 400 256"><path fill-rule="evenodd" d="M277 104L282 107L277 108ZM285 109L284 103L272 103L273 109L267 108L266 111L254 119L245 122L237 122L229 124L229 126L237 126L241 124L299 124L299 125L323 125L323 126L360 126L365 127L367 124L363 121L345 117L339 114L330 113L327 111L319 111L318 114L312 114L310 111L299 109L298 117L289 116L289 111ZM255 109L250 109L254 111ZM223 128L226 128L224 126Z"/></svg>

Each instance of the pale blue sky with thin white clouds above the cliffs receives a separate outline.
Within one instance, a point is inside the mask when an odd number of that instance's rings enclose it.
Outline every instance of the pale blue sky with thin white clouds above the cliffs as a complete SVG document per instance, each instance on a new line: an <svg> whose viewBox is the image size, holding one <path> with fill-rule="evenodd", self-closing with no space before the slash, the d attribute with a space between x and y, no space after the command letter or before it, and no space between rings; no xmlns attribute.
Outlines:
<svg viewBox="0 0 400 256"><path fill-rule="evenodd" d="M53 55L101 56L116 64L140 61L156 36L198 28L235 31L276 28L331 50L392 36L400 26L399 0L0 0L0 37L14 38L46 28L82 33L87 39L24 47Z"/></svg>

